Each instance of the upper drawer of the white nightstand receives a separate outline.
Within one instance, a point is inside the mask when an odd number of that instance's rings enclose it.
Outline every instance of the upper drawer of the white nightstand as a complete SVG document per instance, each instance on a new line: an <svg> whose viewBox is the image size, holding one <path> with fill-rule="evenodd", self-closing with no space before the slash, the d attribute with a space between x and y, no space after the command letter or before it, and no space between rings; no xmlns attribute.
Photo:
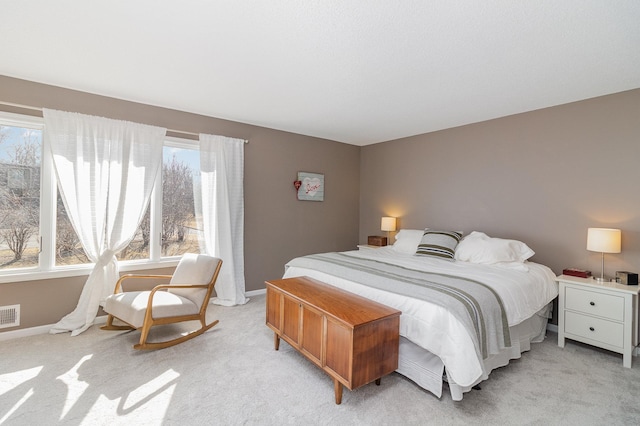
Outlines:
<svg viewBox="0 0 640 426"><path fill-rule="evenodd" d="M566 309L624 321L624 297L573 287L567 287L565 292Z"/></svg>

